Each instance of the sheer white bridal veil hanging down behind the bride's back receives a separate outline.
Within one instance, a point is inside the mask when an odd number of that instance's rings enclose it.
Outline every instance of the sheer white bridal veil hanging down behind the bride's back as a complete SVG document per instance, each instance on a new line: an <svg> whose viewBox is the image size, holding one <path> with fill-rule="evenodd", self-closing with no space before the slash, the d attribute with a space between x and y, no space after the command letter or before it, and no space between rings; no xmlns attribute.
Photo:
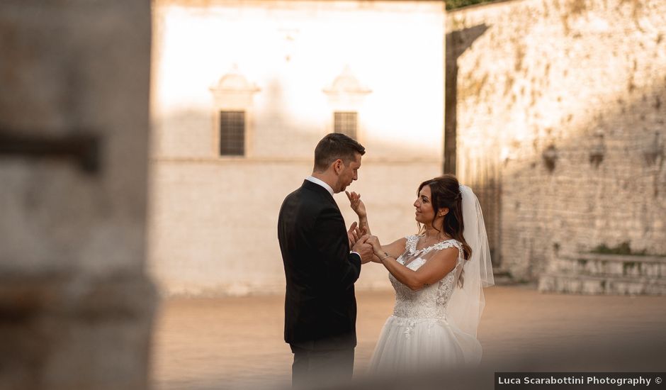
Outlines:
<svg viewBox="0 0 666 390"><path fill-rule="evenodd" d="M460 186L463 203L463 236L472 248L472 256L463 262L463 286L453 289L447 306L448 322L476 338L481 313L485 306L483 287L495 284L490 263L490 247L483 214L476 195L468 186ZM456 269L461 274L461 269ZM478 354L480 360L480 350Z"/></svg>

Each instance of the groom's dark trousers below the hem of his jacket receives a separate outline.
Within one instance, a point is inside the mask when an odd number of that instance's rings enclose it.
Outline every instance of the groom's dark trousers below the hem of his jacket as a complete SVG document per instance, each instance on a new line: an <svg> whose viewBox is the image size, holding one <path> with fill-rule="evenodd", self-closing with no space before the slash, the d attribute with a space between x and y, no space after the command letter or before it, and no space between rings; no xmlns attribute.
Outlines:
<svg viewBox="0 0 666 390"><path fill-rule="evenodd" d="M291 383L294 388L317 388L351 381L354 348L346 350L306 350L291 345L294 362Z"/></svg>

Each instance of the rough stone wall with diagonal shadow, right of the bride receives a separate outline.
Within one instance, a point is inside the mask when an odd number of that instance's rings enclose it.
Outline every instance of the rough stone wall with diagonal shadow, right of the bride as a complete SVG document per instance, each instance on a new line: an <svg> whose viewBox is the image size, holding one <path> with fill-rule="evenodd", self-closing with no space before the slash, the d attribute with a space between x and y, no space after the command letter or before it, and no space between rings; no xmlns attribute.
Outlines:
<svg viewBox="0 0 666 390"><path fill-rule="evenodd" d="M496 195L502 267L536 279L602 244L666 253L666 3L504 1L447 27L458 174Z"/></svg>

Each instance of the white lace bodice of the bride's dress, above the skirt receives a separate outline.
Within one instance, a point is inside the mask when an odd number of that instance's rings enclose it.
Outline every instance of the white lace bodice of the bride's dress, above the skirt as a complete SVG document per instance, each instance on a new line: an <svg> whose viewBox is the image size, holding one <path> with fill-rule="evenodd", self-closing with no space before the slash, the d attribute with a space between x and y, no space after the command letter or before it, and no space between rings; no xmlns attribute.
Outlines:
<svg viewBox="0 0 666 390"><path fill-rule="evenodd" d="M400 264L406 264L407 268L416 271L425 264L429 257L438 250L444 250L449 247L458 248L458 263L461 264L463 260L463 250L461 243L457 240L446 240L417 250L417 242L419 235L410 235L407 237L405 243L405 252L397 258ZM405 318L405 321L410 319L413 321L417 318L444 318L446 319L446 305L448 299L453 294L453 288L456 286L456 272L453 271L446 274L439 282L425 286L417 291L412 291L409 287L405 286L389 274L393 289L395 289L395 308L393 308L393 316Z"/></svg>

